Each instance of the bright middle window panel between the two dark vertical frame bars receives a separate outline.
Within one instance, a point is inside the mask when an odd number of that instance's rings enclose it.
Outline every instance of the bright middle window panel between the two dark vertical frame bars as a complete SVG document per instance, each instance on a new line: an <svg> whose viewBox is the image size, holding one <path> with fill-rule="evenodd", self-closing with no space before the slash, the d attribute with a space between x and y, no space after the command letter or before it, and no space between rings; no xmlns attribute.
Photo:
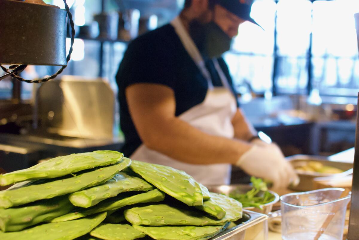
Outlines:
<svg viewBox="0 0 359 240"><path fill-rule="evenodd" d="M308 50L312 3L280 0L277 4L277 93L304 94L308 85Z"/></svg>

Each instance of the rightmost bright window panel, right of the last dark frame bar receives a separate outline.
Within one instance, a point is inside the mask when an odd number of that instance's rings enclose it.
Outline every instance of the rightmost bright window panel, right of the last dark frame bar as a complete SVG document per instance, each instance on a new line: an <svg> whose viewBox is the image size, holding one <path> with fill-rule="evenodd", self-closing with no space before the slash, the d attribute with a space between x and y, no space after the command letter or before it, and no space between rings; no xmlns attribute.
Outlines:
<svg viewBox="0 0 359 240"><path fill-rule="evenodd" d="M321 95L356 96L359 60L354 13L358 0L313 3L313 88Z"/></svg>

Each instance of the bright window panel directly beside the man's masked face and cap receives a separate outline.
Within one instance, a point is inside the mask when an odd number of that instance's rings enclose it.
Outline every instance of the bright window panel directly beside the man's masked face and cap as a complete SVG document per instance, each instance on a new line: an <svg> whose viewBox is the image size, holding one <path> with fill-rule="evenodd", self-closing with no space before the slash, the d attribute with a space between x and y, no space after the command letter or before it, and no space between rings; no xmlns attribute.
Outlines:
<svg viewBox="0 0 359 240"><path fill-rule="evenodd" d="M245 22L239 26L232 50L225 53L239 93L256 93L272 89L274 26L276 4L272 0L257 0L252 5L251 17L265 29Z"/></svg>

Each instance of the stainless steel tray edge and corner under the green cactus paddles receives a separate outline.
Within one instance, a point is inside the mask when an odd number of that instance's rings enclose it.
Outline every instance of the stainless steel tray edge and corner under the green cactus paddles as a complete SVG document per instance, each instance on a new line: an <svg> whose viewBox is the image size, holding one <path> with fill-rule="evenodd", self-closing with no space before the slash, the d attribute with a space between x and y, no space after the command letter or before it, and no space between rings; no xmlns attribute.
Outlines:
<svg viewBox="0 0 359 240"><path fill-rule="evenodd" d="M248 210L243 210L243 215L249 217L249 220L235 227L232 227L231 229L225 230L219 235L216 235L214 238L211 238L211 240L243 240L246 234L246 230L248 231L248 229L255 227L256 225L258 226L260 223L265 224L264 221L268 218L267 215ZM262 231L262 229L265 230L262 226L256 228L257 234Z"/></svg>

